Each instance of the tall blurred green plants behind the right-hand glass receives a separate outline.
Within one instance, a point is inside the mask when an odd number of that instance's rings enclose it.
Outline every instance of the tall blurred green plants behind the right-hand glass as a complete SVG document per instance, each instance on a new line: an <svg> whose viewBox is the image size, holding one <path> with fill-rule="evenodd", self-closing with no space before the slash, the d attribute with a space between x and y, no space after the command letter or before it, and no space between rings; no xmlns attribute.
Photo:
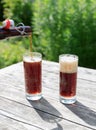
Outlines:
<svg viewBox="0 0 96 130"><path fill-rule="evenodd" d="M80 66L96 68L94 0L43 0L39 4L42 6L38 6L40 11L35 10L35 14L39 17L39 45L45 42L49 48L45 57L58 61L61 53L73 53L79 56Z"/></svg>

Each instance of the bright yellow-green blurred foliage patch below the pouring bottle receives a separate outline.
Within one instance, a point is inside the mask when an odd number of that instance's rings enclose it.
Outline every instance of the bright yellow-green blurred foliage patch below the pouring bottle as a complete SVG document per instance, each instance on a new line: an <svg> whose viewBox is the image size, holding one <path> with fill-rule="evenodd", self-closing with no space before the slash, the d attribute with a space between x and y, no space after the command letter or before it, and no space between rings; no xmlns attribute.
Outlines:
<svg viewBox="0 0 96 130"><path fill-rule="evenodd" d="M0 68L22 61L26 49L15 39L0 41Z"/></svg>

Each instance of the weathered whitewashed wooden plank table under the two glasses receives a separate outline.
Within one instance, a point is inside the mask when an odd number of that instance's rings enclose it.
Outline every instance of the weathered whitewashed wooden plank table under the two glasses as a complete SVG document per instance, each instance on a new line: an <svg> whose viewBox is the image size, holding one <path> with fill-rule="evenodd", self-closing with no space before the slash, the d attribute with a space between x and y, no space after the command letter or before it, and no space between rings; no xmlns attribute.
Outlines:
<svg viewBox="0 0 96 130"><path fill-rule="evenodd" d="M96 70L78 68L77 102L59 102L59 64L43 61L43 98L28 101L22 62L0 70L0 130L96 130Z"/></svg>

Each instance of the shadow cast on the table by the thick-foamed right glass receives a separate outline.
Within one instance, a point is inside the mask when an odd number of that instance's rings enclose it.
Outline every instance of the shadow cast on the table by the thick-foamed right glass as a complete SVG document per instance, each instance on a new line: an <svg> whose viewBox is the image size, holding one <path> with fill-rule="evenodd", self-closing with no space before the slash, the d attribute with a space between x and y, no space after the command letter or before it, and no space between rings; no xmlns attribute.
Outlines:
<svg viewBox="0 0 96 130"><path fill-rule="evenodd" d="M96 112L86 107L80 102L76 102L72 105L65 105L69 110L81 118L89 125L96 126Z"/></svg>

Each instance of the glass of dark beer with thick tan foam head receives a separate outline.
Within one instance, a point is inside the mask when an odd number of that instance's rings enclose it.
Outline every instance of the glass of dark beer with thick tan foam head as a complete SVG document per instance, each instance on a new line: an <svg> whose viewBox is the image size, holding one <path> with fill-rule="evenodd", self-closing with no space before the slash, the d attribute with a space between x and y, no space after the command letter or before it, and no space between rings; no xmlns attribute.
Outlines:
<svg viewBox="0 0 96 130"><path fill-rule="evenodd" d="M61 54L59 56L60 65L60 102L72 104L76 102L76 84L78 56L72 54Z"/></svg>

